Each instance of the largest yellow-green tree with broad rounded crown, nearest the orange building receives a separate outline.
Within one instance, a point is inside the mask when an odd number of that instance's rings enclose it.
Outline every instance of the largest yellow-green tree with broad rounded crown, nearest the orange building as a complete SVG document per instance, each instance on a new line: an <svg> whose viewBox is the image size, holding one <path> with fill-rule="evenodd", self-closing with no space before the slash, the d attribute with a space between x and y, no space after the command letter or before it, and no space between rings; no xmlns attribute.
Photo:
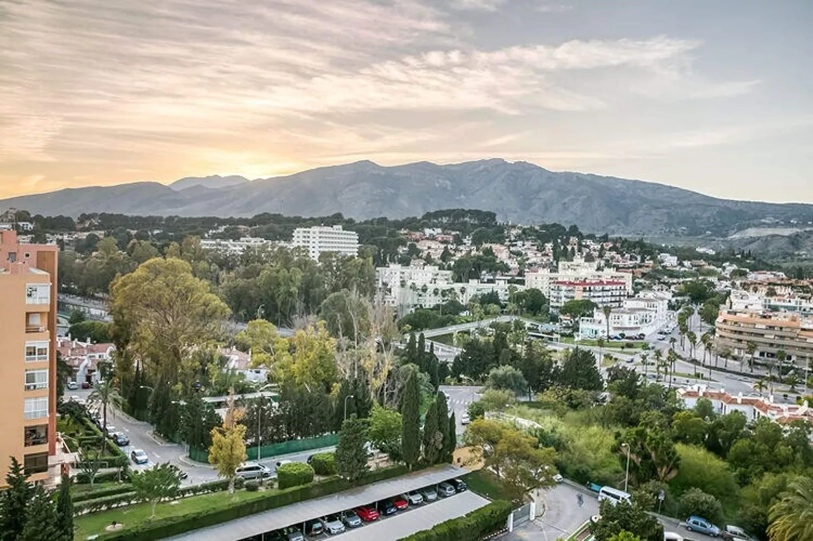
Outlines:
<svg viewBox="0 0 813 541"><path fill-rule="evenodd" d="M192 374L191 353L205 347L228 317L228 306L192 266L177 258L154 258L111 283L115 332L141 358L154 381L175 384Z"/></svg>

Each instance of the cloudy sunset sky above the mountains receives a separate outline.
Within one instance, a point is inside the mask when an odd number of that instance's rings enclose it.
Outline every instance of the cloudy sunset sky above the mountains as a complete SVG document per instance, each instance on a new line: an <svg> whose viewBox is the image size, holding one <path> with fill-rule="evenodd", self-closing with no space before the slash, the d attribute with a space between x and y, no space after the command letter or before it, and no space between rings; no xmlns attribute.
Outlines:
<svg viewBox="0 0 813 541"><path fill-rule="evenodd" d="M0 197L506 158L813 202L809 0L0 0Z"/></svg>

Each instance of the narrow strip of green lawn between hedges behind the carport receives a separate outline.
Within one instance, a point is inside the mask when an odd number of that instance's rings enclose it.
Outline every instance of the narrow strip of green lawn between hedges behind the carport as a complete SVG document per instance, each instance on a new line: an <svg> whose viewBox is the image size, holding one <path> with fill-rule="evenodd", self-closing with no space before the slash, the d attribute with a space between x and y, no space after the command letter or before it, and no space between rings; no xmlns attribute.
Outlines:
<svg viewBox="0 0 813 541"><path fill-rule="evenodd" d="M265 491L236 491L234 494L229 495L226 492L217 492L215 494L206 494L203 496L193 496L190 498L183 498L173 502L158 504L155 508L155 518L162 517L180 517L186 513L194 513L202 509L209 508L222 508L224 500L228 499L233 502L256 500L267 496ZM111 509L102 513L93 513L76 517L74 523L76 525L76 535L74 539L79 541L88 539L89 535L105 533L105 527L110 525L111 522L118 522L124 527L119 531L126 531L128 525L141 524L142 522L150 522L151 505L150 504L135 504L128 505L120 509Z"/></svg>

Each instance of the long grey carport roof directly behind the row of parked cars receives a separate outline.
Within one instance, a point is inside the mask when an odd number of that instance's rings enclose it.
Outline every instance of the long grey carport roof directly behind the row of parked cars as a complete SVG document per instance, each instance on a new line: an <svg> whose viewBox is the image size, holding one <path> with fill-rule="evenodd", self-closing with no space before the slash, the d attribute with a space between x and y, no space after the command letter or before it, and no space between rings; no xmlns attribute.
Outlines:
<svg viewBox="0 0 813 541"><path fill-rule="evenodd" d="M233 541L244 539L263 532L285 528L285 526L299 525L313 518L339 513L346 509L359 507L359 505L385 500L391 496L442 483L467 473L467 470L450 464L435 466L429 470L412 472L401 477L379 481L363 487L351 488L350 490L322 496L314 500L305 500L285 507L270 509L249 517L224 522L217 526L193 530L169 539L173 541Z"/></svg>

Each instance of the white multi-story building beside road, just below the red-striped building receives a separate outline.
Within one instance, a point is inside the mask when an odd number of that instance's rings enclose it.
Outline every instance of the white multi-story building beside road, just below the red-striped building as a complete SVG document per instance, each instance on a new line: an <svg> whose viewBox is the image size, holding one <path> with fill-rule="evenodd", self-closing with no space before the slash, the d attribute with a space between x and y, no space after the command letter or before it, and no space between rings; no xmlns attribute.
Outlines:
<svg viewBox="0 0 813 541"><path fill-rule="evenodd" d="M610 313L610 337L650 335L670 320L669 295L658 292L641 292L640 296L624 299L621 308ZM581 318L581 339L607 338L607 319L600 308L593 310L592 318Z"/></svg>

